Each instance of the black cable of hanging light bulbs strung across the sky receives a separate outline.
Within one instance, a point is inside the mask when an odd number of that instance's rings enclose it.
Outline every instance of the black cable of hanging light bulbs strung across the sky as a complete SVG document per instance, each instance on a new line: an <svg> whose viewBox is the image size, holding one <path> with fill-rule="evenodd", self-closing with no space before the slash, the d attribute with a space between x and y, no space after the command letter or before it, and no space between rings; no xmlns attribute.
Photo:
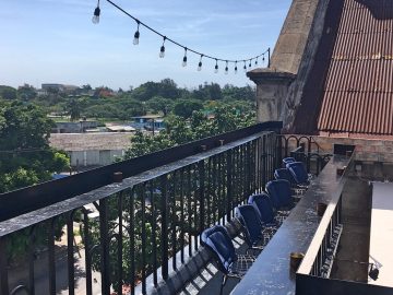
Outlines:
<svg viewBox="0 0 393 295"><path fill-rule="evenodd" d="M184 49L184 56L182 58L182 67L187 67L187 60L188 60L188 57L187 57L187 54L188 52L192 52L192 54L195 54L198 56L200 56L200 61L198 63L198 71L201 71L202 70L202 58L206 58L206 59L211 59L211 60L214 60L215 61L215 67L214 67L214 72L215 73L218 73L218 62L224 62L225 63L225 71L224 73L227 74L228 73L228 64L229 63L234 63L234 71L235 73L238 72L238 62L243 62L245 66L243 66L243 70L245 72L247 72L247 61L249 62L249 68L252 67L252 61L254 60L254 64L255 67L258 66L258 60L261 59L262 62L265 61L265 56L267 56L267 68L270 68L270 59L271 59L271 49L267 48L264 52L258 55L258 56L254 56L252 58L247 58L247 59L238 59L238 60L230 60L230 59L224 59L224 58L217 58L217 57L214 57L214 56L210 56L210 55L205 55L205 54L202 54L198 50L194 50L194 49L191 49L176 40L174 40L172 38L169 38L167 36L165 36L164 34L159 33L158 31L156 31L155 28L151 27L150 25L141 22L139 19L136 19L135 16L131 15L129 12L127 12L124 9L122 9L121 7L119 7L118 4L116 4L114 1L111 0L106 0L109 4L111 4L112 7L115 7L117 10L119 10L120 12L122 12L123 14L126 14L127 16L129 16L130 19L132 19L135 23L136 23L136 31L134 33L134 38L133 38L133 44L134 45L138 45L140 43L140 36L141 36L141 33L140 33L140 26L143 26L144 28L151 31L152 33L160 36L163 38L163 45L160 46L159 48L159 57L160 58L164 58L165 57L165 43L171 43L178 47L181 47ZM100 16L100 8L99 8L99 0L97 1L97 7L95 8L94 10L94 13L93 13L93 19L92 19L92 22L94 24L98 24L99 23L99 16Z"/></svg>

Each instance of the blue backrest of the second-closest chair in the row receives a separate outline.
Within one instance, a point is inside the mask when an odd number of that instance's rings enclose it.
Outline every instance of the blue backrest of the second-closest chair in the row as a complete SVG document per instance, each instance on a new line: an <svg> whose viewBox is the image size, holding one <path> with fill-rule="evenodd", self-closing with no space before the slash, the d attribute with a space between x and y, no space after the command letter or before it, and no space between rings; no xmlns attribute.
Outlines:
<svg viewBox="0 0 393 295"><path fill-rule="evenodd" d="M246 243L251 247L261 239L262 222L257 209L251 204L239 205L235 216L240 221L246 234Z"/></svg>

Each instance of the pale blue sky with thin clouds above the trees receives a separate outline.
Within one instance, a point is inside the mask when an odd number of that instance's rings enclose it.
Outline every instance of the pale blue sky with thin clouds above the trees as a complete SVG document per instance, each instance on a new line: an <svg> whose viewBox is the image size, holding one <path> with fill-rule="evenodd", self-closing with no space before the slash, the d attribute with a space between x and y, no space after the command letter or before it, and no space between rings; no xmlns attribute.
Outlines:
<svg viewBox="0 0 393 295"><path fill-rule="evenodd" d="M63 83L114 88L146 81L174 79L179 86L203 82L246 85L243 71L224 74L221 63L166 44L141 27L140 44L132 44L136 24L105 0L100 22L92 23L94 0L3 0L0 10L0 84ZM115 0L117 4L158 32L189 48L223 59L245 59L274 47L290 0ZM260 61L261 63L261 61ZM240 64L239 64L239 68Z"/></svg>

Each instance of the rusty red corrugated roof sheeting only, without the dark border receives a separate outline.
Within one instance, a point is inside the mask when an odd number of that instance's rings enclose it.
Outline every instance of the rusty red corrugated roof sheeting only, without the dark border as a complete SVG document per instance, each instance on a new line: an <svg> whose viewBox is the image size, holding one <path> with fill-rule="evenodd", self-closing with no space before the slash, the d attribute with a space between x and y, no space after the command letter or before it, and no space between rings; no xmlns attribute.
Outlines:
<svg viewBox="0 0 393 295"><path fill-rule="evenodd" d="M393 134L393 1L345 0L317 128Z"/></svg>

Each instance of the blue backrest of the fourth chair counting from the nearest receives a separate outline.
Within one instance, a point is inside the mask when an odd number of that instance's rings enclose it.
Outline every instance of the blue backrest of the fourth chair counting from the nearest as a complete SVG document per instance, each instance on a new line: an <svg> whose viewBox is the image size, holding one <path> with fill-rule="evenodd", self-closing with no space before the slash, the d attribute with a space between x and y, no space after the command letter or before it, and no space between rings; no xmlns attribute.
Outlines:
<svg viewBox="0 0 393 295"><path fill-rule="evenodd" d="M266 184L266 191L276 209L294 204L291 189L288 180L278 179Z"/></svg>

